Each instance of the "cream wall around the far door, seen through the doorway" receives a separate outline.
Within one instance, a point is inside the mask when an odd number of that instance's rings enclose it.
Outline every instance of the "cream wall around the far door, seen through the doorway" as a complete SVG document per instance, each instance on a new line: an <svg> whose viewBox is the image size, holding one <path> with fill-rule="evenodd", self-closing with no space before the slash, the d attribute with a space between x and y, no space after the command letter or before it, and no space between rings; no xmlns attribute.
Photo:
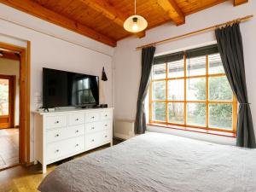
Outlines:
<svg viewBox="0 0 256 192"><path fill-rule="evenodd" d="M15 125L20 125L20 61L0 57L0 74L15 75Z"/></svg>

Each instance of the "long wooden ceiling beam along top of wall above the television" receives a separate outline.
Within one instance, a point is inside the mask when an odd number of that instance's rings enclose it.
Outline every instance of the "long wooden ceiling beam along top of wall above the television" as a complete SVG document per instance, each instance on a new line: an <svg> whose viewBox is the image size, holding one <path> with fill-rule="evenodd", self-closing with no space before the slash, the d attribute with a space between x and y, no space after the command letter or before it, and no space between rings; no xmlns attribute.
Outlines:
<svg viewBox="0 0 256 192"><path fill-rule="evenodd" d="M47 20L50 23L62 26L73 32L78 32L81 35L92 38L103 44L108 44L112 47L116 46L116 41L112 38L108 38L102 33L96 32L90 27L84 26L74 20L70 20L65 16L56 14L55 12L44 8L43 6L33 2L32 0L22 0L22 3L20 3L20 0L0 0L0 3L4 3L15 9L19 9L26 14L34 15L42 20Z"/></svg>

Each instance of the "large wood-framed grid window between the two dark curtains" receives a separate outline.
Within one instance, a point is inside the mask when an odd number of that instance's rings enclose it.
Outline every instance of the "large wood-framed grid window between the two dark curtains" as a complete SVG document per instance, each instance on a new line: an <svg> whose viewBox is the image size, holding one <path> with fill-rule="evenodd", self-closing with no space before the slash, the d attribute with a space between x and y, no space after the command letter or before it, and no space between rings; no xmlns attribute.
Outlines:
<svg viewBox="0 0 256 192"><path fill-rule="evenodd" d="M150 123L235 132L236 114L217 45L154 58Z"/></svg>

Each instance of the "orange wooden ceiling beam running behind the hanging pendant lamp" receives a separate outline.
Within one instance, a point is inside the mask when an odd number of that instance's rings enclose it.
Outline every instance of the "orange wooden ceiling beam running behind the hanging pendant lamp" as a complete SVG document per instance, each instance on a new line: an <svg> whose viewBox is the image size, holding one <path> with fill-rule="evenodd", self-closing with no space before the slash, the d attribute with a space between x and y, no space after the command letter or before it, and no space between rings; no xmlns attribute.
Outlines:
<svg viewBox="0 0 256 192"><path fill-rule="evenodd" d="M115 9L112 4L106 0L79 0L91 9L95 9L97 12L102 13L109 20L113 20L118 26L124 27L125 20L130 16ZM145 37L145 32L133 33L138 38Z"/></svg>

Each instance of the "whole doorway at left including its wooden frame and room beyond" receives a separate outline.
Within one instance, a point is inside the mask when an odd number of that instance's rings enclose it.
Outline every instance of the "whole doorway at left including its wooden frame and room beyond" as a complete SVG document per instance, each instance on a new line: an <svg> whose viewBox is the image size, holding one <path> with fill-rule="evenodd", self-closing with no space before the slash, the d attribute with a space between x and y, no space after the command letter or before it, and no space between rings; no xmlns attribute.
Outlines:
<svg viewBox="0 0 256 192"><path fill-rule="evenodd" d="M30 163L29 53L0 42L0 171Z"/></svg>

